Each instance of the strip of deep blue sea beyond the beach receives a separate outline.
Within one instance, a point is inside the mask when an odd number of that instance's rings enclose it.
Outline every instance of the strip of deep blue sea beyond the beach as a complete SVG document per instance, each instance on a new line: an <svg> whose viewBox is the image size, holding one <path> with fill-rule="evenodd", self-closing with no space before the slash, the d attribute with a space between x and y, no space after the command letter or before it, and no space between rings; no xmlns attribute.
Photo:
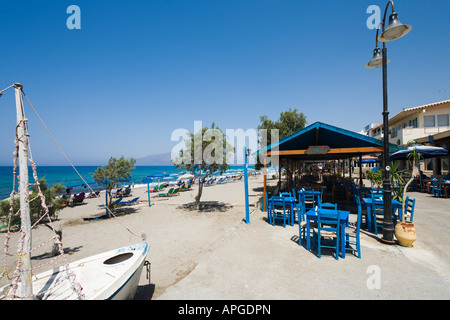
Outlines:
<svg viewBox="0 0 450 320"><path fill-rule="evenodd" d="M98 166L76 167L77 171L94 191L101 189L100 186L95 183L92 177L92 173L97 168ZM243 168L243 166L230 166L231 170L240 170ZM45 178L47 184L50 187L54 184L61 184L66 188L73 188L72 193L90 191L90 189L84 185L83 180L78 176L78 174L71 166L38 166L36 170L39 179ZM33 176L31 174L31 167L29 167L28 172L30 183L34 183ZM145 185L143 179L148 175L152 175L155 173L165 173L169 176L172 175L173 179L176 179L176 175L181 175L186 172L178 170L175 166L136 166L136 168L131 172L131 182L127 182L126 184L134 184L135 186ZM12 187L13 167L0 166L0 200L6 199L11 195Z"/></svg>

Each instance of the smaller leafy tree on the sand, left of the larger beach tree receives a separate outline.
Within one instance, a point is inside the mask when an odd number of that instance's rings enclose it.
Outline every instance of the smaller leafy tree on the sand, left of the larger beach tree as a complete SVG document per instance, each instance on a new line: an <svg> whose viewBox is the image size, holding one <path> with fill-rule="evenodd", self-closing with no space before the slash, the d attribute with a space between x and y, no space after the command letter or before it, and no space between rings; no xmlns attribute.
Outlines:
<svg viewBox="0 0 450 320"><path fill-rule="evenodd" d="M115 187L119 186L119 180L121 178L130 178L133 171L136 160L133 158L125 159L121 156L119 159L114 157L109 158L108 164L105 167L98 167L94 173L91 173L94 180L108 193L108 198L111 199L111 191ZM114 210L114 202L110 201L108 208ZM109 212L108 212L109 216Z"/></svg>

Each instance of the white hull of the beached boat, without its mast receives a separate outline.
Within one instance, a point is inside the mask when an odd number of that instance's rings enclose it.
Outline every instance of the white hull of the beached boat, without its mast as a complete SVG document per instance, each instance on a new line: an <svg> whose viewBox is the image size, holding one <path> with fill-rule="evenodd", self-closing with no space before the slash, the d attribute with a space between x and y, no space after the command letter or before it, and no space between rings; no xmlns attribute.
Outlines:
<svg viewBox="0 0 450 320"><path fill-rule="evenodd" d="M39 300L131 300L136 294L148 252L147 242L123 247L69 264L75 274L75 292L65 266L33 277L33 295ZM11 288L0 290L0 299L11 299ZM20 294L20 283L16 295Z"/></svg>

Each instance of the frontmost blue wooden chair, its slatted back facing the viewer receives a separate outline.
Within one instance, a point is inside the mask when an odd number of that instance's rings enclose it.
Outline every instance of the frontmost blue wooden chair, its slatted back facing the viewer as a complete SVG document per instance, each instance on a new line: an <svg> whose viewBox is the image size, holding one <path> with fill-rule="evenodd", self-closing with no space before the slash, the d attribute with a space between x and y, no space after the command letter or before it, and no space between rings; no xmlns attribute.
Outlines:
<svg viewBox="0 0 450 320"><path fill-rule="evenodd" d="M313 228L313 246L317 248L320 259L321 248L335 250L339 260L339 212L337 209L320 209L317 211L317 227Z"/></svg>

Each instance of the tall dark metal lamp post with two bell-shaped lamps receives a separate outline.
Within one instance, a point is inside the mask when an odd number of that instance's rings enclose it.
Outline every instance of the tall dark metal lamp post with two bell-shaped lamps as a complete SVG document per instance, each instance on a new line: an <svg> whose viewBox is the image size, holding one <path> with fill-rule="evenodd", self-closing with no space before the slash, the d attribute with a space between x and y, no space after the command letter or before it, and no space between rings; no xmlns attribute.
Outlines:
<svg viewBox="0 0 450 320"><path fill-rule="evenodd" d="M389 16L389 24L386 26L386 12L392 7L392 13ZM410 25L400 23L398 14L394 10L394 2L389 1L384 10L383 20L380 22L382 26L382 33L377 35L375 41L375 50L373 51L373 58L366 64L366 68L373 69L383 67L383 165L384 165L384 180L383 180L383 204L384 204L384 220L383 220L383 238L385 243L393 244L394 242L394 228L392 227L392 189L389 179L389 112L387 99L387 64L390 62L387 59L386 42L393 41L405 36L412 29ZM379 26L378 26L379 27ZM380 55L380 48L378 48L378 41L383 42L383 50Z"/></svg>

